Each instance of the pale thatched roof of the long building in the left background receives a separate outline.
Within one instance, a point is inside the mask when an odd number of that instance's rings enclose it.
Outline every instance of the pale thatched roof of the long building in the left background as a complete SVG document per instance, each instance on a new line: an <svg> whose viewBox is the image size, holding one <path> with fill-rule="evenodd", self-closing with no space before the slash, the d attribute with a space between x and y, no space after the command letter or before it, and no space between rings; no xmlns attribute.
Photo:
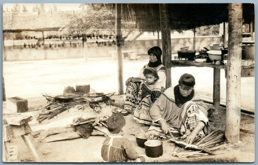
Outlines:
<svg viewBox="0 0 258 165"><path fill-rule="evenodd" d="M3 31L58 30L63 28L72 12L3 13Z"/></svg>

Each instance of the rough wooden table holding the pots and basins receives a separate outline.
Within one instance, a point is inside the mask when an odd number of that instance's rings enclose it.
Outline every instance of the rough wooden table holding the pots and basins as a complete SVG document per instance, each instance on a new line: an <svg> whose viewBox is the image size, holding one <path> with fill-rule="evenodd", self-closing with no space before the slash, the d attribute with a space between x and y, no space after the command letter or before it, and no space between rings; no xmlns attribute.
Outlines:
<svg viewBox="0 0 258 165"><path fill-rule="evenodd" d="M199 63L194 60L171 60L167 61L167 67L185 67L185 66L196 66L196 67L211 67L213 68L213 105L220 105L220 69L224 69L227 72L226 65L214 65L212 63ZM241 77L253 77L255 66L242 66ZM227 74L226 74L227 75Z"/></svg>

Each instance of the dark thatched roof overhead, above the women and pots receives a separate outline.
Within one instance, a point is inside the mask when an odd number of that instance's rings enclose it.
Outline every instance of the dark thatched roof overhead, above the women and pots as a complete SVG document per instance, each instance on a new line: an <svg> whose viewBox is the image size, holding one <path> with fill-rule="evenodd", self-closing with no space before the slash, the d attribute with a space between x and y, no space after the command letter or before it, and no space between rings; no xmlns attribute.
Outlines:
<svg viewBox="0 0 258 165"><path fill-rule="evenodd" d="M105 4L115 9L115 4ZM135 20L141 31L160 30L158 3L122 3L122 17ZM228 3L167 3L171 30L190 30L228 22ZM254 4L243 3L244 23L254 20Z"/></svg>

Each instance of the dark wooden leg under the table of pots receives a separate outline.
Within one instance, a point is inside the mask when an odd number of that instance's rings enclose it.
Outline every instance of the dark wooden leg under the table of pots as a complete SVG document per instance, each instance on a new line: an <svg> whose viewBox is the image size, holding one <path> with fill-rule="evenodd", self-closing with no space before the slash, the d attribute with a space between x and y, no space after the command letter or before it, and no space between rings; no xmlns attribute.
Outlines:
<svg viewBox="0 0 258 165"><path fill-rule="evenodd" d="M213 105L220 105L220 69L213 68Z"/></svg>

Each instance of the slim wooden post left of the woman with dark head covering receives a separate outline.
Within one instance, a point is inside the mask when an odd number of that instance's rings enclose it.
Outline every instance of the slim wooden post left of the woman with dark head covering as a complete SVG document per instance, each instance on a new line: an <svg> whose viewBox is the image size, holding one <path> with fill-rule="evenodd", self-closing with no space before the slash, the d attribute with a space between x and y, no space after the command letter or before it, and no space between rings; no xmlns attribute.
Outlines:
<svg viewBox="0 0 258 165"><path fill-rule="evenodd" d="M123 59L122 59L122 32L121 32L121 3L116 3L116 50L118 64L118 94L123 94Z"/></svg>

